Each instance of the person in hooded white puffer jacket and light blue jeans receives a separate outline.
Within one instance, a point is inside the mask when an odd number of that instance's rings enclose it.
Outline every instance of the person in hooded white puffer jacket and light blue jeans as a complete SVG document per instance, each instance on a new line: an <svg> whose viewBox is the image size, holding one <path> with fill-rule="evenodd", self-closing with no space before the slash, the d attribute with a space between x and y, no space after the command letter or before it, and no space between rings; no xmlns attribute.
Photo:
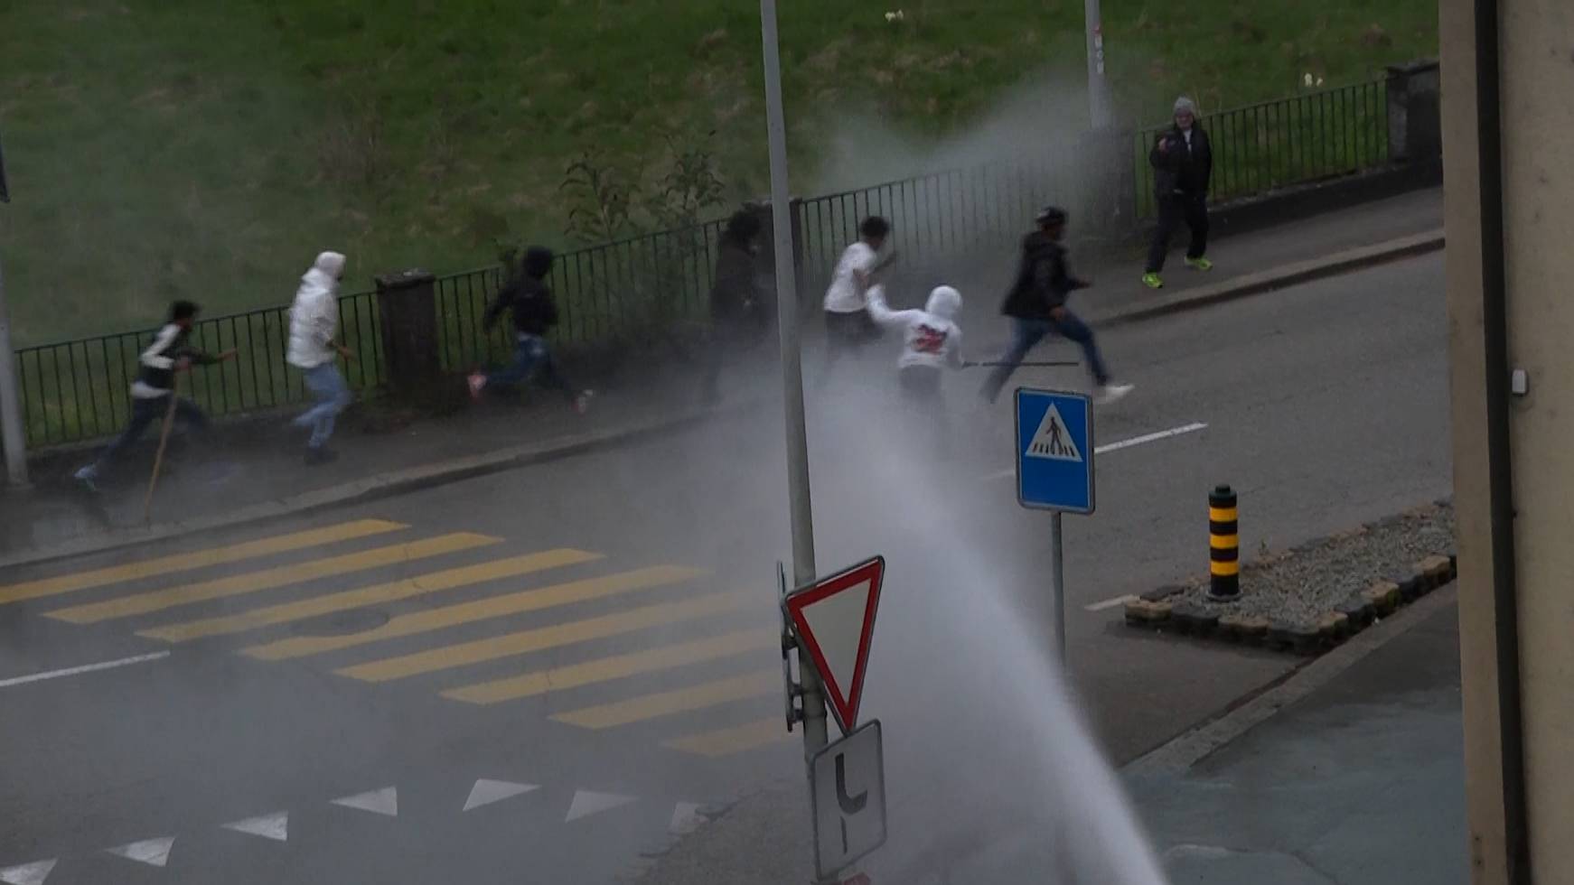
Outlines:
<svg viewBox="0 0 1574 885"><path fill-rule="evenodd" d="M312 428L305 443L307 464L324 464L334 459L327 448L334 435L334 421L349 406L349 385L340 374L334 358L351 358L353 351L338 343L338 281L345 277L345 256L324 252L316 256L312 269L301 277L294 305L290 307L290 347L286 362L305 373L305 387L316 398L316 406L294 420L297 428Z"/></svg>

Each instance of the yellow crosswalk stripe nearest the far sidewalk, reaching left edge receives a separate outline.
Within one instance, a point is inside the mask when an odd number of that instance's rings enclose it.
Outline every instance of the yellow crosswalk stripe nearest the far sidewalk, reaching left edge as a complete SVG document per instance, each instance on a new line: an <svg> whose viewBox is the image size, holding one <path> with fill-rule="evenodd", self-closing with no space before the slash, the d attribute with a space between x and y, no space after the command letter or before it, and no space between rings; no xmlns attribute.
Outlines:
<svg viewBox="0 0 1574 885"><path fill-rule="evenodd" d="M382 519L362 519L356 522L345 522L340 525L329 525L324 528L312 528L309 531L296 531L291 534L279 534L274 538L260 538L257 541L246 541L242 544L231 544L228 547L212 547L209 550L175 553L172 556L159 556L154 560L143 560L140 563L109 566L104 569L93 569L88 572L74 572L69 575L58 575L52 578L30 580L25 583L14 583L11 586L0 586L0 605L6 602L22 602L24 599L39 599L44 596L74 593L77 589L88 589L93 586L107 586L112 583L124 583L139 578L168 575L175 572L187 572L192 569L205 569L209 566L224 566L230 563L239 563L244 560L255 560L258 556L288 553L293 550L304 550L307 547L318 547L323 544L334 544L338 541L353 541L356 538L368 538L371 534L382 534L387 531L398 531L403 528L409 527L405 523L387 522Z"/></svg>

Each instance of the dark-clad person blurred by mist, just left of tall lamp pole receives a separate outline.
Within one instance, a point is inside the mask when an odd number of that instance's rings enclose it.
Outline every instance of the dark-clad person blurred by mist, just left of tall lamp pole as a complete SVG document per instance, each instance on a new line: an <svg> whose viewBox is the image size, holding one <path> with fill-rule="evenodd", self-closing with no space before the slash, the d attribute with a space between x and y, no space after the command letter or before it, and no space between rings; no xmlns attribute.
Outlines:
<svg viewBox="0 0 1574 885"><path fill-rule="evenodd" d="M733 212L716 244L716 281L710 288L710 352L705 363L704 396L721 399L721 369L751 346L765 329L765 299L756 283L760 217L749 209Z"/></svg>

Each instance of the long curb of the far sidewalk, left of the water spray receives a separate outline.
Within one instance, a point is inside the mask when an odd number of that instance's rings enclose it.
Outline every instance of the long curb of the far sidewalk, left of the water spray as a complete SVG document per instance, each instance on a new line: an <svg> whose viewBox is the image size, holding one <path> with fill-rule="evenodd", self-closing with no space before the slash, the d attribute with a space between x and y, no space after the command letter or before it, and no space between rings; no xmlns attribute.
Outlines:
<svg viewBox="0 0 1574 885"><path fill-rule="evenodd" d="M683 428L699 424L708 418L727 417L733 412L751 410L752 407L754 404L751 402L715 410L691 410L677 417L637 421L611 431L598 431L587 435L562 435L538 443L510 446L485 454L472 454L452 461L379 473L349 483L340 483L337 486L313 489L286 498L238 508L224 516L201 520L161 522L150 527L112 530L102 534L77 538L54 547L0 556L0 569L35 566L52 560L83 556L88 553L105 553L121 547L146 544L150 541L165 541L170 538L235 528L238 525L304 516L329 508L362 505L379 498L430 489L433 486L474 479L477 476L486 476L490 473L499 473L515 467L584 454L609 448L636 437L671 434Z"/></svg>

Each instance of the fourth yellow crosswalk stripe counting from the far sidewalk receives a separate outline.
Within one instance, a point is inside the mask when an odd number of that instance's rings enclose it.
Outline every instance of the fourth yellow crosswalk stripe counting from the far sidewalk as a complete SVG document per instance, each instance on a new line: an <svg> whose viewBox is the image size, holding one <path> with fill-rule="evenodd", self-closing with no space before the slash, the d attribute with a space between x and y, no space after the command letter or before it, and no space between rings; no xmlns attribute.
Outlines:
<svg viewBox="0 0 1574 885"><path fill-rule="evenodd" d="M343 637L291 637L288 640L242 649L241 654L258 660L288 660L293 657L307 657L312 654L323 654L326 651L354 648L397 637L441 630L444 627L456 627L474 621L502 618L504 615L521 615L524 611L537 611L540 608L568 605L573 602L584 602L589 599L600 599L636 589L655 589L658 586L693 580L704 574L705 572L699 569L686 569L680 566L652 566L631 572L619 572L615 575L576 580L540 589L527 589L523 593L510 593L507 596L494 596L491 599L449 605L444 608L431 608L428 611L400 615L375 630L365 630L360 633L349 633Z"/></svg>

